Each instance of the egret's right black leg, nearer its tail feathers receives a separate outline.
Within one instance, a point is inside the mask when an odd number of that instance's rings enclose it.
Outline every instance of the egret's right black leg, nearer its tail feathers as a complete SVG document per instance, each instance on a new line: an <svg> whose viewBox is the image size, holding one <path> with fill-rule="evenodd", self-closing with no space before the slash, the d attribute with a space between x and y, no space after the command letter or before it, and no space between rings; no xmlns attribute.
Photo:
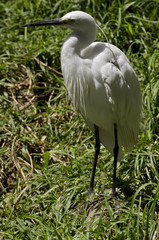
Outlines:
<svg viewBox="0 0 159 240"><path fill-rule="evenodd" d="M115 139L115 145L114 145L114 173L113 173L113 186L112 186L112 196L115 196L116 194L116 168L117 168L117 161L118 161L118 152L119 152L119 146L118 146L118 131L117 131L117 124L114 124L114 139Z"/></svg>

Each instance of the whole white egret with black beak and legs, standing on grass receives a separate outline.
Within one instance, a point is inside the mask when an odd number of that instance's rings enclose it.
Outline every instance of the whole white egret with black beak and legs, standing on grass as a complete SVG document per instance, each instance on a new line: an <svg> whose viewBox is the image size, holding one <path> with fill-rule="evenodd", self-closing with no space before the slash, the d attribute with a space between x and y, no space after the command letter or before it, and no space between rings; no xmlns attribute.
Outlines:
<svg viewBox="0 0 159 240"><path fill-rule="evenodd" d="M87 13L73 11L62 18L23 25L64 26L73 30L61 50L62 73L72 103L95 134L95 156L89 193L93 193L100 142L114 155L112 195L116 194L117 160L122 146L131 149L136 142L141 91L137 76L116 46L93 42L97 24Z"/></svg>

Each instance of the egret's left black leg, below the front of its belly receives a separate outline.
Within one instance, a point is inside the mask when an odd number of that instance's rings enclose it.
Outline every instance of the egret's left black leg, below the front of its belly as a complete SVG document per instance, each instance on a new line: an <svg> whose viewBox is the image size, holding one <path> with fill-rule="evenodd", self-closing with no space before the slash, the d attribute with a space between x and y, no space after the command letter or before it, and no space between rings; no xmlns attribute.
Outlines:
<svg viewBox="0 0 159 240"><path fill-rule="evenodd" d="M95 155L94 155L94 161L93 161L93 169L92 169L92 175L91 175L89 192L88 192L89 195L93 193L95 171L96 171L96 166L97 166L98 155L99 155L99 152L100 152L99 129L96 125L94 125L94 132L95 132L96 143L95 143Z"/></svg>

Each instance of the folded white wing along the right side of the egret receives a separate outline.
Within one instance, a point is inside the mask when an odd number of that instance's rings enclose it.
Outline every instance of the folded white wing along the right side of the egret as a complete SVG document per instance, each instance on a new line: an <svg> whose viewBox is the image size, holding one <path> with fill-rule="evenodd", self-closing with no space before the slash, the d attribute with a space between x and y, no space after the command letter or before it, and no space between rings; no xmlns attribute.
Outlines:
<svg viewBox="0 0 159 240"><path fill-rule="evenodd" d="M115 63L101 69L106 95L118 126L119 144L131 149L136 142L141 111L141 91L137 76L121 50L111 45Z"/></svg>

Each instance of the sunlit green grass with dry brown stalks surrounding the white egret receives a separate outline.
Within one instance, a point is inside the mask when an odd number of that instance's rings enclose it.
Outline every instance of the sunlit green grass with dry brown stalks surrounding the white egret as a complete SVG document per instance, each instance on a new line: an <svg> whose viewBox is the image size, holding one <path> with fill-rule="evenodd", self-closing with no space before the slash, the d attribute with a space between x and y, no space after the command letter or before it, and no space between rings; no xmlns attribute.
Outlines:
<svg viewBox="0 0 159 240"><path fill-rule="evenodd" d="M159 239L158 1L1 0L0 9L0 239ZM70 31L20 28L77 9L126 53L143 96L138 142L118 164L112 201L113 157L101 148L96 204L87 195L94 136L60 74Z"/></svg>

